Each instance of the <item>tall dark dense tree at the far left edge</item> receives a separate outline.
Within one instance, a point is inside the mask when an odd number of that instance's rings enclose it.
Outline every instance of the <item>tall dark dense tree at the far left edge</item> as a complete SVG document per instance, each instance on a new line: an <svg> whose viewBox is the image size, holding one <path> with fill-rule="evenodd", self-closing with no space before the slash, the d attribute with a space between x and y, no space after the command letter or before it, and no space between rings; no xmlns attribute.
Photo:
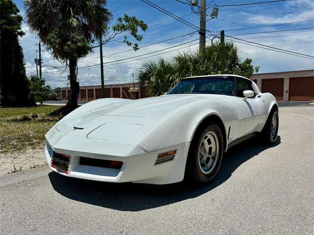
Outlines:
<svg viewBox="0 0 314 235"><path fill-rule="evenodd" d="M0 93L1 106L26 106L28 84L23 49L19 44L22 16L12 0L0 1Z"/></svg>

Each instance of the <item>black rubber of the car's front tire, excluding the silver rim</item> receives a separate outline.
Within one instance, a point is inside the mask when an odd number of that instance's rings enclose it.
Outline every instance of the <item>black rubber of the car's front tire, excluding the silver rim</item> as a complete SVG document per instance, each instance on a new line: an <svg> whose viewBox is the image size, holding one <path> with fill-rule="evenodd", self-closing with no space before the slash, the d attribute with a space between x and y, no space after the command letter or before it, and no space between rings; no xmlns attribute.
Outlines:
<svg viewBox="0 0 314 235"><path fill-rule="evenodd" d="M218 173L219 168L220 168L223 150L224 150L223 139L222 139L223 137L222 137L221 130L217 124L211 124L211 125L207 126L206 128L199 128L199 129L200 130L198 130L194 134L193 140L192 140L190 148L189 148L187 161L186 161L186 165L185 165L185 180L193 181L193 182L196 181L199 183L208 183L209 181L211 181L216 176L216 174ZM207 173L204 170L204 168L206 168L206 166L204 166L206 161L203 161L204 163L200 163L201 162L200 149L201 149L201 146L204 146L203 141L208 141L208 143L211 143L210 138L208 138L207 140L203 139L203 138L205 138L205 135L208 133L210 133L210 135L212 135L213 139L215 139L217 137L216 141L213 141L213 142L218 142L218 147L215 148L218 150L218 152L215 154L215 156L216 156L215 159L217 158L217 161L215 162L215 164L213 164L213 166L211 167L210 170L208 170L208 173ZM213 133L215 134L215 136ZM203 148L203 150L204 149L205 148ZM213 154L213 148L210 150L210 147L209 147L208 153L209 152L212 155L214 155ZM206 157L205 155L204 155L204 157ZM213 159L214 158L210 158L209 162L215 161ZM202 160L203 160L203 158L202 158ZM201 166L202 164L203 164L204 168L202 168L202 166Z"/></svg>

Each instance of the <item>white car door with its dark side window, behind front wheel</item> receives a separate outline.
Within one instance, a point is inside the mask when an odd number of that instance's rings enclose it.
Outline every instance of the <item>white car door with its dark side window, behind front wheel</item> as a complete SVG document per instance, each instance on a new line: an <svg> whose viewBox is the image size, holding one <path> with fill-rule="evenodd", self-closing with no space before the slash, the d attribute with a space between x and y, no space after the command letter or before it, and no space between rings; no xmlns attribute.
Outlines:
<svg viewBox="0 0 314 235"><path fill-rule="evenodd" d="M252 87L252 81L237 77L236 79L236 99L240 117L238 138L250 133L260 131L267 113L267 103L262 94L256 94ZM243 91L254 91L253 97L243 99Z"/></svg>

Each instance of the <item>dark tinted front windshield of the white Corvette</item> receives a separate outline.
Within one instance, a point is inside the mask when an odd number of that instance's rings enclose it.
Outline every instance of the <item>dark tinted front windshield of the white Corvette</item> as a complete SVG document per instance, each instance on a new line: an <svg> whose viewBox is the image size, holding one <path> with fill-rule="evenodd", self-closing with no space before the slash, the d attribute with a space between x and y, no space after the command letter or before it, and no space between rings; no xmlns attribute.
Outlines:
<svg viewBox="0 0 314 235"><path fill-rule="evenodd" d="M226 94L234 95L233 77L187 78L175 85L167 94Z"/></svg>

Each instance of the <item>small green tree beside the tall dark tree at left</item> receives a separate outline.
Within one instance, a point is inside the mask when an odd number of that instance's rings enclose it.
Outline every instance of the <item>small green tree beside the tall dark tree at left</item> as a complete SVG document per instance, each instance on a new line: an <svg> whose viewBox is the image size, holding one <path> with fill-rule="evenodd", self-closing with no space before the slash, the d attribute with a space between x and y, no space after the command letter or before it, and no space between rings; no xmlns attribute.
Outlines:
<svg viewBox="0 0 314 235"><path fill-rule="evenodd" d="M31 99L39 99L40 104L43 104L43 97L47 97L51 87L45 85L45 79L35 75L29 77L29 96Z"/></svg>

